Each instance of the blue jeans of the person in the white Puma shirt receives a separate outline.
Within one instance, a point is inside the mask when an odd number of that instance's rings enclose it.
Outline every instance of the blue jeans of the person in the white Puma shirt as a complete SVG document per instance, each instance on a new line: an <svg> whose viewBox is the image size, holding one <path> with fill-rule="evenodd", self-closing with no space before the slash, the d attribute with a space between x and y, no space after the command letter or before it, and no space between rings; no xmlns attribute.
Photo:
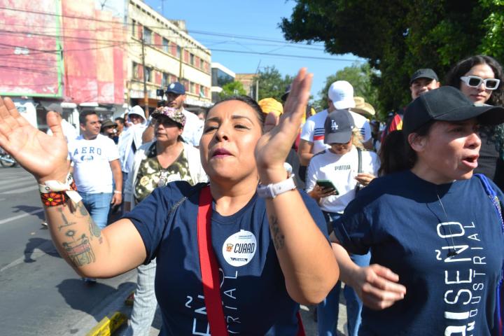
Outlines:
<svg viewBox="0 0 504 336"><path fill-rule="evenodd" d="M328 221L336 221L341 214L323 211L325 218ZM369 266L371 254L368 252L365 255L350 255L350 258L357 265ZM337 320L339 314L339 293L341 292L341 281L336 283L328 296L317 306L317 328L318 336L336 336L337 335ZM346 300L346 326L349 331L349 336L357 336L358 328L360 327L360 313L362 311L362 301L360 301L357 293L348 285L344 286L343 295Z"/></svg>

